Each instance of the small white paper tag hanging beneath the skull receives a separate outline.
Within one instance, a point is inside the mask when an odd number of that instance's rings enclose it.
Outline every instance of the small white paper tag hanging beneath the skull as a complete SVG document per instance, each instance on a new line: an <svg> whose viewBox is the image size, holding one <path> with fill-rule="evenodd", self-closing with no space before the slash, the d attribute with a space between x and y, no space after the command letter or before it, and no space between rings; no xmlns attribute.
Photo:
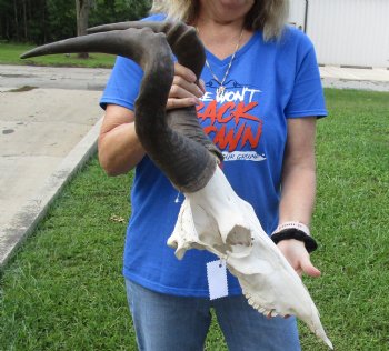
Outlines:
<svg viewBox="0 0 389 351"><path fill-rule="evenodd" d="M226 262L217 260L207 263L209 299L228 297Z"/></svg>

